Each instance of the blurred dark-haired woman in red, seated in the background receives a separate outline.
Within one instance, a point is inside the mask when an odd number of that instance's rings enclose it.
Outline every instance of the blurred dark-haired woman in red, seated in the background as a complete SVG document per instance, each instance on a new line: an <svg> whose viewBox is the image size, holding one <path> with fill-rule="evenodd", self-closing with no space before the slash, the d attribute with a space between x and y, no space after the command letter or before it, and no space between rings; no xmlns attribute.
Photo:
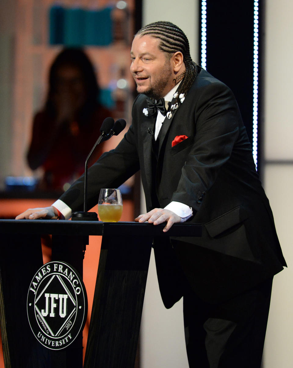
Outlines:
<svg viewBox="0 0 293 368"><path fill-rule="evenodd" d="M39 190L66 190L84 172L102 122L111 116L99 104L98 94L93 65L81 49L64 49L57 55L49 72L45 106L33 120L27 155L32 170L44 170ZM89 166L101 154L102 145L98 148Z"/></svg>

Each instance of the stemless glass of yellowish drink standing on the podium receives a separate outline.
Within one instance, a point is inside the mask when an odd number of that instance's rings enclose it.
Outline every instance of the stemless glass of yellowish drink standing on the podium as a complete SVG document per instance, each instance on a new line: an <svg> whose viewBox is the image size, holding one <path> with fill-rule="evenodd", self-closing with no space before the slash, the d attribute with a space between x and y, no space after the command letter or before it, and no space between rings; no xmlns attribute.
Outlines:
<svg viewBox="0 0 293 368"><path fill-rule="evenodd" d="M122 215L122 197L119 189L101 189L98 202L100 220L117 222Z"/></svg>

